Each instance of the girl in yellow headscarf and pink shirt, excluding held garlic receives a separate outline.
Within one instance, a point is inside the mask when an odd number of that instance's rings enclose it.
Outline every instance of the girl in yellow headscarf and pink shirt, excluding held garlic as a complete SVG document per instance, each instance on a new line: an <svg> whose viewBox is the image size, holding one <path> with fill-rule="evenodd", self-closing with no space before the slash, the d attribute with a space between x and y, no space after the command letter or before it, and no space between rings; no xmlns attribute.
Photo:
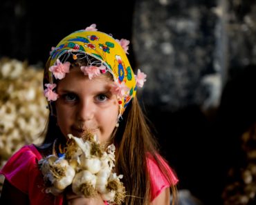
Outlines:
<svg viewBox="0 0 256 205"><path fill-rule="evenodd" d="M146 75L134 75L127 59L129 41L97 31L95 24L71 33L50 53L44 95L50 115L44 143L24 146L1 170L6 180L1 204L107 204L100 196L80 197L67 188L46 193L37 162L53 150L62 154L68 134L91 130L102 144L116 146L116 173L122 174L123 204L172 204L178 179L159 155L136 90Z"/></svg>

